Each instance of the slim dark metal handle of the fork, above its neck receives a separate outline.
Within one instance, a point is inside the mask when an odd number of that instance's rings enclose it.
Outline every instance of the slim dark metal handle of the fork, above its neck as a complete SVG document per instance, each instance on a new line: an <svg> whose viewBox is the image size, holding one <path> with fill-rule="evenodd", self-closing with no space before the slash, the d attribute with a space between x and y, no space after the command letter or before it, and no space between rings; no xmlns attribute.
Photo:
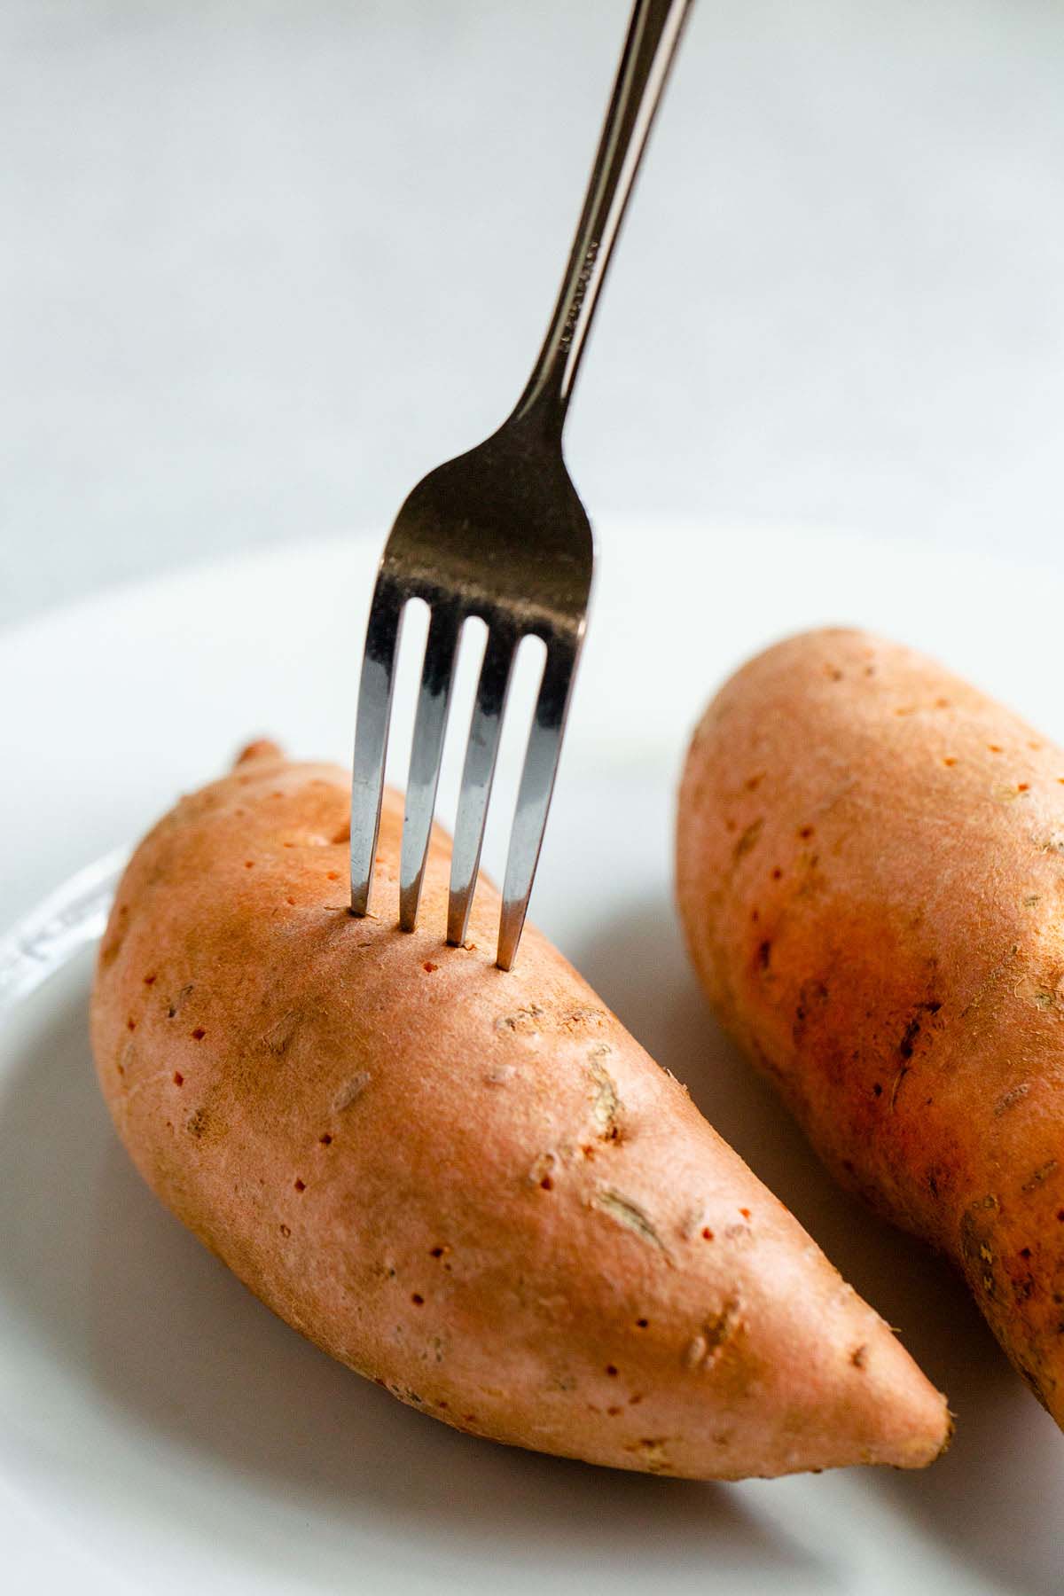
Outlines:
<svg viewBox="0 0 1064 1596"><path fill-rule="evenodd" d="M584 343L692 0L635 0L584 209L547 337L512 421L536 415L562 437Z"/></svg>

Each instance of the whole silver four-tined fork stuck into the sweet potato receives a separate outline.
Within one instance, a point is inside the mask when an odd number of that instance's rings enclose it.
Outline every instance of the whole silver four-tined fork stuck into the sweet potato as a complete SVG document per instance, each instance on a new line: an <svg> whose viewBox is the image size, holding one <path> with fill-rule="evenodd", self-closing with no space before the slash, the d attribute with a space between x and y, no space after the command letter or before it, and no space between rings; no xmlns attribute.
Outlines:
<svg viewBox="0 0 1064 1596"><path fill-rule="evenodd" d="M522 637L546 662L502 884L498 964L517 954L592 584L592 528L562 456L562 431L609 254L691 0L636 0L562 292L515 410L487 442L437 466L399 511L381 557L359 680L351 785L351 913L368 911L404 606L429 605L399 868L399 924L413 930L461 629L488 638L466 745L447 940L466 938L491 780Z"/></svg>

